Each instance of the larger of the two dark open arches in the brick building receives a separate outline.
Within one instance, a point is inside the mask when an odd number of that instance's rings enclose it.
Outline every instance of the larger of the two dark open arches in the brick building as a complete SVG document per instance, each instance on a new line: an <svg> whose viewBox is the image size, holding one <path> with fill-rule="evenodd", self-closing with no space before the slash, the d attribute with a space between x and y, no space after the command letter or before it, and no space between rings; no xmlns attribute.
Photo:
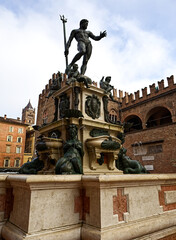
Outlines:
<svg viewBox="0 0 176 240"><path fill-rule="evenodd" d="M155 127L172 122L170 111L165 107L156 107L147 114L146 127Z"/></svg>

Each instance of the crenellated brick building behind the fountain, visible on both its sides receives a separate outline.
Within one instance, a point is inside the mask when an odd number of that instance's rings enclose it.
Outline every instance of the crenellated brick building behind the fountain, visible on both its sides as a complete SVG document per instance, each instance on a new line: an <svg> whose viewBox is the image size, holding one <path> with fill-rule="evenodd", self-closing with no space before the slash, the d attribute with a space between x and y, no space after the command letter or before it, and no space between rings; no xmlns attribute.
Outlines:
<svg viewBox="0 0 176 240"><path fill-rule="evenodd" d="M52 81L58 77L53 74L49 84L39 95L37 125L54 121L57 104L54 98L46 98ZM66 76L63 75L61 87L64 88ZM108 110L112 121L128 122L124 147L131 159L142 163L151 173L176 172L176 84L174 77L142 89L134 94L113 90L114 101L109 100ZM97 83L94 83L97 86Z"/></svg>

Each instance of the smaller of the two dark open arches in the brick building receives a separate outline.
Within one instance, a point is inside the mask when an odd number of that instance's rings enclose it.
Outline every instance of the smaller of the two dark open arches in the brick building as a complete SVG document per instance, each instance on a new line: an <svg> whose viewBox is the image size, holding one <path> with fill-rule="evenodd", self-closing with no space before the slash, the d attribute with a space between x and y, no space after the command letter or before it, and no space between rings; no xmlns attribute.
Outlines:
<svg viewBox="0 0 176 240"><path fill-rule="evenodd" d="M126 123L125 132L132 132L142 129L142 121L136 115L128 116L124 122Z"/></svg>

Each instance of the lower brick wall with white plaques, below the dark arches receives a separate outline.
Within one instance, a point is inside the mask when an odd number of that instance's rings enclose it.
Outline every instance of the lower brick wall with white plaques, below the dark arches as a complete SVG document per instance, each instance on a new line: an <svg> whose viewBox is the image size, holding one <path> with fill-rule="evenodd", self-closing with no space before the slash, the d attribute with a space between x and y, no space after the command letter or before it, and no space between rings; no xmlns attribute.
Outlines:
<svg viewBox="0 0 176 240"><path fill-rule="evenodd" d="M141 146L133 146L136 142L142 142ZM151 129L136 131L126 134L124 147L131 159L136 159L142 165L153 165L151 173L175 173L176 172L176 123ZM161 151L155 151L160 146ZM161 147L162 146L162 147ZM140 153L144 148L144 154L135 155L135 148ZM151 150L150 150L151 149ZM147 151L147 152L145 152ZM142 160L143 157L153 157L154 160Z"/></svg>

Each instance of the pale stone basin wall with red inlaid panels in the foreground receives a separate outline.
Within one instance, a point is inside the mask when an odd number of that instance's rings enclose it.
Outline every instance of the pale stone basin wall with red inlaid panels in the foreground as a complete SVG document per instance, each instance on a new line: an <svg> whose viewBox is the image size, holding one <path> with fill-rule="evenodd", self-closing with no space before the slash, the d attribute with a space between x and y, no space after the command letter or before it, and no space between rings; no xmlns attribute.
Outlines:
<svg viewBox="0 0 176 240"><path fill-rule="evenodd" d="M4 240L170 240L176 175L6 176ZM7 201L7 198L6 198Z"/></svg>

